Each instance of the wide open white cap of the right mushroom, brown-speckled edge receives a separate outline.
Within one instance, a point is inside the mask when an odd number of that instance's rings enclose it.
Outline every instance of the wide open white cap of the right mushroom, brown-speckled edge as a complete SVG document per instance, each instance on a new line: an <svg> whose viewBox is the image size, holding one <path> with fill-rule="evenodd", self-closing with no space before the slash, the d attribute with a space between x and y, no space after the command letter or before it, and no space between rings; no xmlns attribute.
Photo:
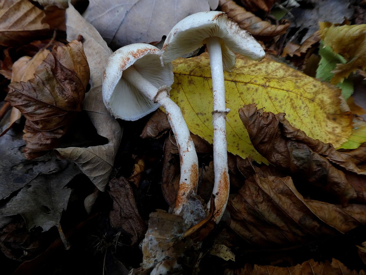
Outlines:
<svg viewBox="0 0 366 275"><path fill-rule="evenodd" d="M235 68L233 52L252 60L261 60L265 56L262 46L226 13L209 11L187 16L173 27L162 48L162 62L171 62L194 51L203 46L205 39L209 37L221 38L223 65L226 71Z"/></svg>

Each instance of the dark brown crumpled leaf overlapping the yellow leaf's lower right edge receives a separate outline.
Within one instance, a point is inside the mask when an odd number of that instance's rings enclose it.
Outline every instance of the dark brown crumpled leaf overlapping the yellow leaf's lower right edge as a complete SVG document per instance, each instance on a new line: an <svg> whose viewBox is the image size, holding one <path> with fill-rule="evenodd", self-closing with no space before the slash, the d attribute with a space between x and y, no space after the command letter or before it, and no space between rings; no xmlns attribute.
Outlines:
<svg viewBox="0 0 366 275"><path fill-rule="evenodd" d="M239 109L239 116L248 130L253 146L261 155L277 168L303 177L309 183L338 195L342 203L356 197L355 190L342 171L308 145L284 136L283 127L289 125L284 113L274 115L263 112L263 109L258 110L256 106L244 106Z"/></svg>

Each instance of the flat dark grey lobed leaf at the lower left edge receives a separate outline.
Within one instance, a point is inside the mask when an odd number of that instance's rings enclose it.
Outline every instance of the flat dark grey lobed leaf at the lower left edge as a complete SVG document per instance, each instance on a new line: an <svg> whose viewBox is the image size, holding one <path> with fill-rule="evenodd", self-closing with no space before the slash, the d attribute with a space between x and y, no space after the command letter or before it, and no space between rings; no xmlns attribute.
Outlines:
<svg viewBox="0 0 366 275"><path fill-rule="evenodd" d="M65 187L77 174L74 164L48 154L37 160L26 160L21 153L24 141L12 130L0 139L0 194L7 202L0 209L4 217L21 214L28 230L41 227L43 231L59 226L71 189ZM9 149L11 148L11 149ZM2 225L3 226L3 225Z"/></svg>

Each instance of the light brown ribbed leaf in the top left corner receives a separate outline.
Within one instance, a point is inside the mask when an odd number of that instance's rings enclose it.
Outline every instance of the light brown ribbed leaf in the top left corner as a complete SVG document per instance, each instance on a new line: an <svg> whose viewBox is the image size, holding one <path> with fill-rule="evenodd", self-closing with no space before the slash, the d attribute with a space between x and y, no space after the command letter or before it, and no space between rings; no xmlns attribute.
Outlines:
<svg viewBox="0 0 366 275"><path fill-rule="evenodd" d="M50 34L42 10L27 0L0 0L0 45L15 46Z"/></svg>

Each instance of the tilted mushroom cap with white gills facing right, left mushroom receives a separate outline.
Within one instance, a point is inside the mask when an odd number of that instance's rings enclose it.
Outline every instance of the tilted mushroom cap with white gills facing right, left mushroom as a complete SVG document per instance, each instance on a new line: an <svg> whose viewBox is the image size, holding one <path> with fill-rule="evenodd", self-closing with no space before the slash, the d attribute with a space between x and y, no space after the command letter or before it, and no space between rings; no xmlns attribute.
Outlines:
<svg viewBox="0 0 366 275"><path fill-rule="evenodd" d="M123 77L123 71L133 66L157 89L174 82L172 65L160 63L161 51L149 44L136 43L117 49L109 57L104 75L102 96L104 105L115 118L138 120L159 108Z"/></svg>

